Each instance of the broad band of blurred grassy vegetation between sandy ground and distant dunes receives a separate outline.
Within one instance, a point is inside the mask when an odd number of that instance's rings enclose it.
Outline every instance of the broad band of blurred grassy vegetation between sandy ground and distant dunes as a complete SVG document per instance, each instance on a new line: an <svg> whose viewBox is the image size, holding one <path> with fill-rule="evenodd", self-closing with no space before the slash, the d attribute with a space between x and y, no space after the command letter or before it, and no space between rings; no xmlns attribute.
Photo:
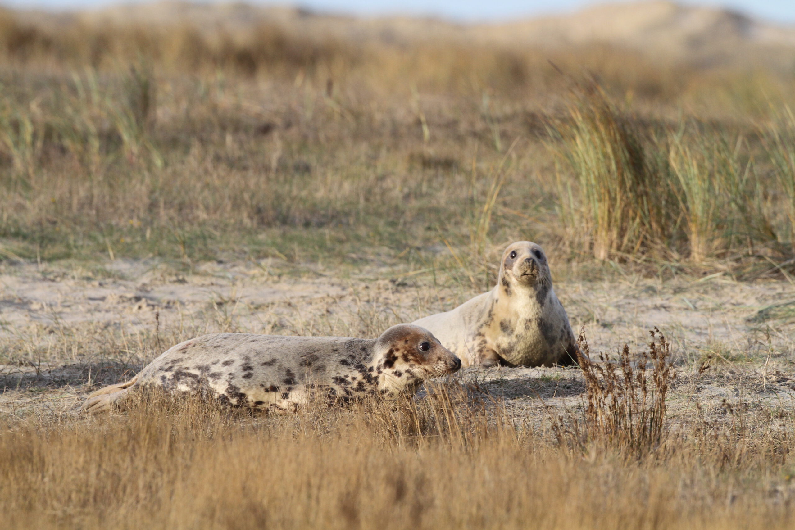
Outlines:
<svg viewBox="0 0 795 530"><path fill-rule="evenodd" d="M604 46L0 14L0 259L229 253L787 274L793 75ZM461 253L456 249L471 250Z"/></svg>

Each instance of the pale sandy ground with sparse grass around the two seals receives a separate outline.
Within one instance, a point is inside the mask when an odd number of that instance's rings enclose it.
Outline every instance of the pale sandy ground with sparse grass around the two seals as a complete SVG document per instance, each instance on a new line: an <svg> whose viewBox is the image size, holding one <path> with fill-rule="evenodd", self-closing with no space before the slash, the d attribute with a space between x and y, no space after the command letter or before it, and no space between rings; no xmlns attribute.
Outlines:
<svg viewBox="0 0 795 530"><path fill-rule="evenodd" d="M162 342L177 331L374 336L475 294L386 269L347 279L284 270L254 262L208 264L191 273L155 261L114 261L94 270L6 265L0 269L0 414L79 414L96 385L129 377L157 354L126 338L143 344L142 336L151 341L157 333L165 350L171 344ZM625 343L641 349L653 327L668 336L677 362L674 416L691 414L696 402L713 414L736 406L795 408L792 321L749 320L795 299L789 282L623 276L558 281L555 288L572 325L584 327L591 352L615 353ZM95 346L119 334L124 354ZM59 348L67 339L76 345L72 353ZM584 393L576 368L467 369L460 377L509 410L535 410L540 419L549 416L548 405L580 405Z"/></svg>

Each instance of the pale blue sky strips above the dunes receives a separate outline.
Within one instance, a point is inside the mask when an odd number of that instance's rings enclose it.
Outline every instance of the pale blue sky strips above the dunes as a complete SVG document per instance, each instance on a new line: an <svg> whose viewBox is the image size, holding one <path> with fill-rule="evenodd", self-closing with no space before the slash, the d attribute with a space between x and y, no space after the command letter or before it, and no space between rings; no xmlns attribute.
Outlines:
<svg viewBox="0 0 795 530"><path fill-rule="evenodd" d="M132 0L140 2L141 0ZM102 6L130 0L0 0L12 7L44 7L56 10ZM565 13L599 0L296 0L277 3L308 7L312 10L344 14L415 14L459 21L503 21L516 17ZM795 0L680 0L690 5L724 6L767 21L795 24Z"/></svg>

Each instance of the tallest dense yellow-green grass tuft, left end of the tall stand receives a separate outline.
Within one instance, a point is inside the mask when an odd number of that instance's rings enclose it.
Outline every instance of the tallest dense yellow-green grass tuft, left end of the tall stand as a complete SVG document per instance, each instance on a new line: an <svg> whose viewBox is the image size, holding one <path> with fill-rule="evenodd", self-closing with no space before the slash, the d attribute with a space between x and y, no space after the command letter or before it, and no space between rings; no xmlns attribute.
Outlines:
<svg viewBox="0 0 795 530"><path fill-rule="evenodd" d="M565 119L553 126L558 155L576 179L563 181L564 219L605 261L665 241L665 175L655 171L646 132L595 82L577 87Z"/></svg>

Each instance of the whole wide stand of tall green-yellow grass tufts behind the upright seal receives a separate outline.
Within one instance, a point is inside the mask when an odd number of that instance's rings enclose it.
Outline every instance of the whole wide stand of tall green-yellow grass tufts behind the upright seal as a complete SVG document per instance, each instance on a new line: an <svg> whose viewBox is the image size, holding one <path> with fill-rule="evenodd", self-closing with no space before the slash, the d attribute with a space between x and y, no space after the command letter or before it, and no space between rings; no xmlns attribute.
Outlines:
<svg viewBox="0 0 795 530"><path fill-rule="evenodd" d="M755 256L757 246L789 257L780 234L789 233L791 220L773 206L787 207L788 155L775 134L767 144L780 171L770 179L743 135L684 118L676 126L642 122L595 82L574 92L551 130L550 146L564 161L562 217L598 260L687 256L700 264Z"/></svg>

